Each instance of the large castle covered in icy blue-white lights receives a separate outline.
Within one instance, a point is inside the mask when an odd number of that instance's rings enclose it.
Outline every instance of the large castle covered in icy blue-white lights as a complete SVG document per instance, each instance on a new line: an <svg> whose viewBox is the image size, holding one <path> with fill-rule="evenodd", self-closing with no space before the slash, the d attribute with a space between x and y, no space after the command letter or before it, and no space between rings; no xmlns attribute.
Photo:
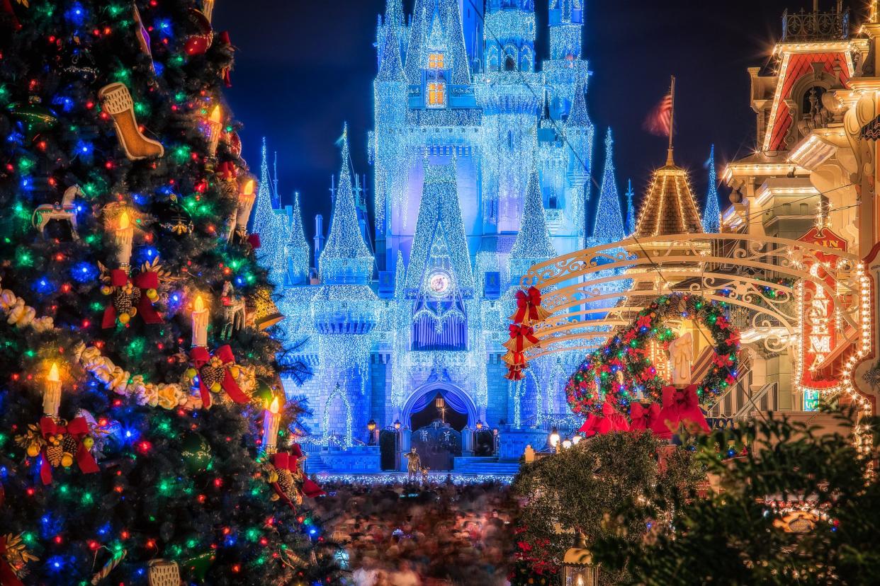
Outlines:
<svg viewBox="0 0 880 586"><path fill-rule="evenodd" d="M370 421L378 430L400 422L405 449L440 409L463 431L455 464L467 469L466 456L481 452L472 430L499 430L502 459L518 458L568 411L564 380L582 357L537 360L518 383L503 379L501 361L520 277L588 241L583 1L551 1L540 67L534 11L533 0L416 0L405 15L401 0L388 0L377 30L373 198L352 169L346 130L326 240L318 217L309 246L298 196L273 206L263 165L254 231L283 286L286 334L308 339L299 358L315 375L288 391L313 410L304 419L312 471L378 469L378 448L361 445L371 443ZM625 234L613 168L605 182L613 195L594 242Z"/></svg>

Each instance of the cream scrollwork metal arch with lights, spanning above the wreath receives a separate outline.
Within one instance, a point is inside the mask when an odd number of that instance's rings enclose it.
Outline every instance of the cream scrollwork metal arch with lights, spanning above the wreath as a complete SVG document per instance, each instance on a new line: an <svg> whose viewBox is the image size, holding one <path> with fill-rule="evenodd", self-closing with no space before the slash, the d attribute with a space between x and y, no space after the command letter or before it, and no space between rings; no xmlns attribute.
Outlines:
<svg viewBox="0 0 880 586"><path fill-rule="evenodd" d="M644 288L652 279L659 285L656 290ZM622 293L613 291L614 284L625 281L637 286ZM529 360L595 350L650 300L682 291L728 304L740 328L749 331L752 342L764 344L766 351L790 349L796 357L796 381L803 373L799 351L803 307L822 292L833 308L834 327L843 336L840 344L849 346L840 384L823 391L847 391L856 402L867 405L852 387L851 376L871 344L870 282L861 259L852 253L810 242L742 234L629 238L535 264L521 286L538 287L543 307L552 312L535 326L540 344L526 353ZM767 286L774 296L764 293ZM597 307L601 301L606 306L616 301L616 305Z"/></svg>

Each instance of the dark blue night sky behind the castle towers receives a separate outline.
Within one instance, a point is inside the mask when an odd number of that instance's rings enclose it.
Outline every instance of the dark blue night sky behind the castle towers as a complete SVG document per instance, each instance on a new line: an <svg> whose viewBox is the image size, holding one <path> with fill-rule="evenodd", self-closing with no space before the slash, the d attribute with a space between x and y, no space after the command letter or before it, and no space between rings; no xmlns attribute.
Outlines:
<svg viewBox="0 0 880 586"><path fill-rule="evenodd" d="M405 0L407 13L413 3ZM823 9L832 4L820 3ZM548 51L546 5L536 0L541 58ZM692 171L701 205L709 146L715 143L719 166L754 147L746 68L766 64L781 34L782 11L810 6L809 0L587 0L584 55L592 72L587 100L597 127L596 180L611 126L621 197L630 177L641 197L651 170L665 160L665 139L645 133L642 121L675 75L676 163ZM371 177L373 43L384 10L385 0L216 0L214 26L228 29L239 49L227 98L245 124L244 156L259 172L260 140L268 138L270 153L278 153L282 198L290 203L292 193L301 192L310 238L313 215L329 216L330 175L339 170L334 142L346 120L356 170ZM594 185L593 202L596 192Z"/></svg>

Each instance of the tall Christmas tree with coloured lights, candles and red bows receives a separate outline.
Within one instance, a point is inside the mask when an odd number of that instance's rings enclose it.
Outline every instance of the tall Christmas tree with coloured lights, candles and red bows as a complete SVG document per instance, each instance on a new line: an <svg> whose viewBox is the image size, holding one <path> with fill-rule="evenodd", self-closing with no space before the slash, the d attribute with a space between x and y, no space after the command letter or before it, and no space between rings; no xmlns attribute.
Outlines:
<svg viewBox="0 0 880 586"><path fill-rule="evenodd" d="M213 4L0 2L4 586L337 582Z"/></svg>

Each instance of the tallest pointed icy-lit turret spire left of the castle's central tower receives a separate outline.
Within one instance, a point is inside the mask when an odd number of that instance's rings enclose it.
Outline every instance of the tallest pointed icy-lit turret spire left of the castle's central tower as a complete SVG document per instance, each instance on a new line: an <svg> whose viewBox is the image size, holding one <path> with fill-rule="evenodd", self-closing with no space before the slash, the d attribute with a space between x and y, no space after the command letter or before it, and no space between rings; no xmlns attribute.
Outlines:
<svg viewBox="0 0 880 586"><path fill-rule="evenodd" d="M342 132L339 189L336 191L330 234L327 235L319 261L321 279L328 284L364 284L372 277L373 263L373 255L363 242L361 226L357 221L346 124Z"/></svg>

